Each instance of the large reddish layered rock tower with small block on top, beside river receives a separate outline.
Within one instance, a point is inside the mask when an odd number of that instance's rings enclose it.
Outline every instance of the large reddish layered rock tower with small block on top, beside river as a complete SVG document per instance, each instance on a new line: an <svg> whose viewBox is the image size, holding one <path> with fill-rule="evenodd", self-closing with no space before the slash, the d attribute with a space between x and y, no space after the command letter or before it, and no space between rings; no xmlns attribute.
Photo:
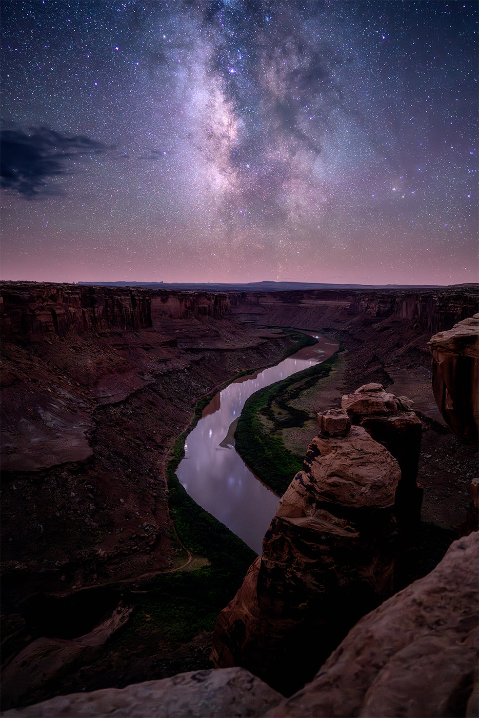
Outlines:
<svg viewBox="0 0 479 718"><path fill-rule="evenodd" d="M323 417L263 555L215 625L215 665L248 668L284 694L311 679L355 621L391 595L401 471L348 423L344 413Z"/></svg>

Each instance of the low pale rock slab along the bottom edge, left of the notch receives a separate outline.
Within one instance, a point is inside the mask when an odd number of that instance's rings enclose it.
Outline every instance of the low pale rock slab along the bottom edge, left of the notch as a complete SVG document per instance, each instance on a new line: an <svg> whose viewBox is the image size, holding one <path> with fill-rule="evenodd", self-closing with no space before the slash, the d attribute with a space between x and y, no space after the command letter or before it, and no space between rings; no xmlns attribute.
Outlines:
<svg viewBox="0 0 479 718"><path fill-rule="evenodd" d="M6 711L3 718L136 716L148 718L254 718L282 696L243 668L179 673L163 681L93 693L58 696L34 706Z"/></svg>

